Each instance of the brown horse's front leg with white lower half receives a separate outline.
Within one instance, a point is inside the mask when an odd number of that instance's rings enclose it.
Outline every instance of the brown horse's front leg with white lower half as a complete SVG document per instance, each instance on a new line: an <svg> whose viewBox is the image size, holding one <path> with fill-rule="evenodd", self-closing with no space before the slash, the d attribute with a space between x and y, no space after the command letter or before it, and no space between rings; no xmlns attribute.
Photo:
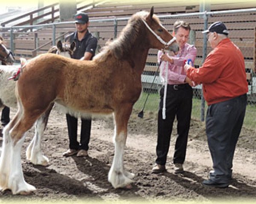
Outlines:
<svg viewBox="0 0 256 204"><path fill-rule="evenodd" d="M115 154L111 169L108 173L108 181L114 188L126 187L132 182L131 178L134 177L133 173L129 173L124 169L123 154L127 137L127 125L131 115L132 105L125 104L122 108L115 111L115 130L114 130L114 143Z"/></svg>

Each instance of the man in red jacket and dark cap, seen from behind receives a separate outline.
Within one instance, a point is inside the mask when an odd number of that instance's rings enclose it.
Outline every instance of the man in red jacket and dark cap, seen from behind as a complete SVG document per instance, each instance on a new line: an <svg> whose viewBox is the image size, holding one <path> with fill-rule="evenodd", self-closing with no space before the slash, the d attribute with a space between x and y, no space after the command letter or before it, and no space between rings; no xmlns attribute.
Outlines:
<svg viewBox="0 0 256 204"><path fill-rule="evenodd" d="M247 103L244 57L228 38L224 23L215 22L203 33L207 33L213 50L200 68L185 65L184 69L192 81L203 84L204 98L208 103L206 134L213 170L203 184L228 187Z"/></svg>

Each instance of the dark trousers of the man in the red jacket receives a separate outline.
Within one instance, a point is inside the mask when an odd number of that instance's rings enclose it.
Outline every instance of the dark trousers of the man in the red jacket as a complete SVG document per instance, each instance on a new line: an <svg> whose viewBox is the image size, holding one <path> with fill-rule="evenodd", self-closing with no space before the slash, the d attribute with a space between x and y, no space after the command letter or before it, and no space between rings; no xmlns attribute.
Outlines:
<svg viewBox="0 0 256 204"><path fill-rule="evenodd" d="M209 178L228 183L232 177L233 156L239 138L247 103L247 95L209 105L206 134L212 156L213 172Z"/></svg>

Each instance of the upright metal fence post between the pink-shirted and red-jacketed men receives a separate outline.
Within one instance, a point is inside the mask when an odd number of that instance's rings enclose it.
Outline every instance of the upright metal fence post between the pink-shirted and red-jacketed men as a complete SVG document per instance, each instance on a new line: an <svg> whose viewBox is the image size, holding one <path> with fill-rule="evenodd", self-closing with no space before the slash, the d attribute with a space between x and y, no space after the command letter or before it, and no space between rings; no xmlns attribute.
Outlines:
<svg viewBox="0 0 256 204"><path fill-rule="evenodd" d="M204 30L207 30L208 28L208 15L207 15L207 11L205 11L204 14ZM203 47L203 62L206 58L207 55L207 34L204 33L204 47ZM202 85L202 89L201 89L201 121L204 121L204 108L205 108L205 100L204 100L204 94L203 94L203 85Z"/></svg>

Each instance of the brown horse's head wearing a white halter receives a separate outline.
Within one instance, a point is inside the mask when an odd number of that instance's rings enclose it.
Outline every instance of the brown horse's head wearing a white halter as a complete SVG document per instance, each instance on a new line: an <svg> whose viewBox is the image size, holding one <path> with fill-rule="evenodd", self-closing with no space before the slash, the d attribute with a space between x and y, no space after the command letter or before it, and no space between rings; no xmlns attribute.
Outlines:
<svg viewBox="0 0 256 204"><path fill-rule="evenodd" d="M161 25L158 17L154 15L153 6L151 7L150 13L142 20L146 27L147 38L151 48L157 48L159 50L168 48L170 51L174 52L179 50L176 38Z"/></svg>

